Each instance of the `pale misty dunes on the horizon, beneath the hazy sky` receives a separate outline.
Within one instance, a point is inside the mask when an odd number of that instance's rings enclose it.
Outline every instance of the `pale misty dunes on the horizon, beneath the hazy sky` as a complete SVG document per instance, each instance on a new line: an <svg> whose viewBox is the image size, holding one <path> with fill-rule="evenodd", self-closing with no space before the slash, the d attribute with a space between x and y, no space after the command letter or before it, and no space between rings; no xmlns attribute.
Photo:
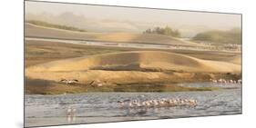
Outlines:
<svg viewBox="0 0 256 128"><path fill-rule="evenodd" d="M48 13L41 14L26 14L26 20L39 20L49 22L57 25L71 25L81 29L87 29L91 32L127 32L127 33L142 33L148 28L155 26L164 27L169 25L175 29L179 29L183 37L192 37L198 33L208 31L214 28L205 25L184 25L174 23L147 23L147 22L136 22L131 20L118 20L118 19L94 19L87 18L86 15L75 15L71 12L65 12L60 15L51 15ZM215 28L216 29L216 28ZM222 29L222 28L219 28ZM226 30L226 28L223 28Z"/></svg>

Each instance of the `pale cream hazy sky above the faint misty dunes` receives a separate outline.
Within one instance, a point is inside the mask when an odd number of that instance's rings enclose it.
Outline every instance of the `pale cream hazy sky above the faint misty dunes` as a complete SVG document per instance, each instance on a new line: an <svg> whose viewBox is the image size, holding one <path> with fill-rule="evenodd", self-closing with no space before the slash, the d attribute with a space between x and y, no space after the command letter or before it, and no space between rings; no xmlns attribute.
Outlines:
<svg viewBox="0 0 256 128"><path fill-rule="evenodd" d="M241 15L26 1L26 13L29 14L60 15L65 12L94 19L162 23L163 25L205 25L227 29L241 27Z"/></svg>

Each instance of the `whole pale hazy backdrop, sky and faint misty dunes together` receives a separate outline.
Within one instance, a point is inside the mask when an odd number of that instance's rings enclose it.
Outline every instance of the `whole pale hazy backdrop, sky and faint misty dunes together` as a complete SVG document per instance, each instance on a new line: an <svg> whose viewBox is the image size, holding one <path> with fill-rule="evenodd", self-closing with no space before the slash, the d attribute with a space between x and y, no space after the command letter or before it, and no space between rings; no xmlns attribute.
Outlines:
<svg viewBox="0 0 256 128"><path fill-rule="evenodd" d="M234 14L26 1L26 18L31 19L31 15L38 20L95 32L140 33L147 28L169 25L190 36L207 30L241 28L241 15Z"/></svg>

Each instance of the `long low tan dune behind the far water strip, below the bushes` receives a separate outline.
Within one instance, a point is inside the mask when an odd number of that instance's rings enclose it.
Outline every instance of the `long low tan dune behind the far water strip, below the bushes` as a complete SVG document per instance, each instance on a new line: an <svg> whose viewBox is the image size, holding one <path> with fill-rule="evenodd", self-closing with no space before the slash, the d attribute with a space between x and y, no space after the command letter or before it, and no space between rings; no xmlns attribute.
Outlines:
<svg viewBox="0 0 256 128"><path fill-rule="evenodd" d="M26 23L26 36L47 37L58 39L106 41L118 43L144 43L144 44L177 44L187 46L203 46L191 42L183 42L177 38L159 34L131 34L131 33L92 33L74 32L49 28Z"/></svg>

